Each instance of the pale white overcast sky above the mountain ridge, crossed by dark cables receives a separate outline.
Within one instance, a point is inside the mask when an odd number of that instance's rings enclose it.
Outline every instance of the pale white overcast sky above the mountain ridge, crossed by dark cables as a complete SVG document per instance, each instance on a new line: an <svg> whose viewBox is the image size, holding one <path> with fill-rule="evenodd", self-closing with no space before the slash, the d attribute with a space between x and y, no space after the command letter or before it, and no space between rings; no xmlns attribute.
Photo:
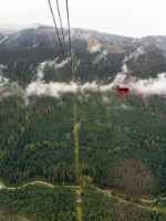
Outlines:
<svg viewBox="0 0 166 221"><path fill-rule="evenodd" d="M65 0L59 0L66 27ZM55 10L55 0L52 0ZM127 36L166 35L166 0L69 0L72 28ZM48 0L0 0L0 29L53 25Z"/></svg>

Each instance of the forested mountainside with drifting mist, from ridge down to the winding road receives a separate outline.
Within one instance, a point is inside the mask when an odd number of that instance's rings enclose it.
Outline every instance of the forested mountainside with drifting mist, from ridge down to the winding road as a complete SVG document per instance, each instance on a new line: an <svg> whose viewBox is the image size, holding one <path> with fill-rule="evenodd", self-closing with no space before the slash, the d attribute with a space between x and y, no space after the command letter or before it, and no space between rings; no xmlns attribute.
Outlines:
<svg viewBox="0 0 166 221"><path fill-rule="evenodd" d="M129 196L166 193L165 41L73 29L72 82L69 54L63 60L52 28L1 32L6 183L40 176ZM123 81L131 85L128 94L116 92Z"/></svg>

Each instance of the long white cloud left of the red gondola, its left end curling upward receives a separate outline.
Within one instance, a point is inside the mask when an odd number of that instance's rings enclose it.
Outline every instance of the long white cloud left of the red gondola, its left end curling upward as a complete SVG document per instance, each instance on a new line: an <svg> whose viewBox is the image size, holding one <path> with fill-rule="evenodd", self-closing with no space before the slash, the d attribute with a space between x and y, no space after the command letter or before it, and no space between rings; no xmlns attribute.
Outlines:
<svg viewBox="0 0 166 221"><path fill-rule="evenodd" d="M62 62L63 63L63 62ZM52 64L54 65L54 62L51 61L44 61L42 62L39 67L38 67L38 73L37 73L37 81L30 83L27 88L25 88L25 94L27 96L31 96L31 95L37 95L37 96L53 96L53 97L60 97L61 94L63 93L86 93L87 91L90 92L107 92L107 91L112 91L114 86L116 86L117 84L122 83L124 81L124 78L126 77L125 74L117 74L115 80L107 85L100 85L96 82L92 82L92 83L84 83L83 85L79 85L76 83L59 83L59 82L50 82L50 83L45 83L43 81L43 76L44 76L44 67L46 65L52 66Z"/></svg>

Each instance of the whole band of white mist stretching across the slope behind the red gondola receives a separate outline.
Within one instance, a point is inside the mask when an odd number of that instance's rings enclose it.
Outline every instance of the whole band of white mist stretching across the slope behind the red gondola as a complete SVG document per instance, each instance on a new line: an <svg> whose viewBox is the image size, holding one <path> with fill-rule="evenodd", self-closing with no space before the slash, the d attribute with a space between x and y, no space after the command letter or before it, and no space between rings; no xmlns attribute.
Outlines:
<svg viewBox="0 0 166 221"><path fill-rule="evenodd" d="M7 66L0 64L0 92L1 97L2 96L9 96L9 95L15 95L15 96L22 96L24 99L28 99L29 96L52 96L60 98L62 94L64 93L81 93L86 94L89 92L114 92L115 87L118 84L123 84L126 81L128 82L129 93L135 95L141 95L144 97L151 96L151 95L166 95L166 73L159 73L156 78L149 77L147 80L137 80L135 77L127 77L127 65L126 61L128 61L133 56L138 56L141 49L136 50L137 53L133 53L132 56L125 56L124 61L122 63L122 72L117 73L114 81L112 81L110 84L102 85L100 83L96 83L95 81L90 83L86 82L84 84L77 84L75 82L73 83L64 83L64 82L44 82L44 71L49 66L51 69L62 69L65 66L70 59L66 59L62 61L61 63L58 63L58 57L53 61L46 60L39 64L37 69L37 80L31 82L25 86L23 90L18 82L9 82L9 78L3 76L3 70L7 69ZM136 55L134 55L136 54ZM100 61L103 56L106 55L106 52L103 51L96 60ZM95 60L95 61L96 61ZM3 93L4 92L4 93ZM122 107L123 108L123 107ZM124 107L125 108L125 107Z"/></svg>

